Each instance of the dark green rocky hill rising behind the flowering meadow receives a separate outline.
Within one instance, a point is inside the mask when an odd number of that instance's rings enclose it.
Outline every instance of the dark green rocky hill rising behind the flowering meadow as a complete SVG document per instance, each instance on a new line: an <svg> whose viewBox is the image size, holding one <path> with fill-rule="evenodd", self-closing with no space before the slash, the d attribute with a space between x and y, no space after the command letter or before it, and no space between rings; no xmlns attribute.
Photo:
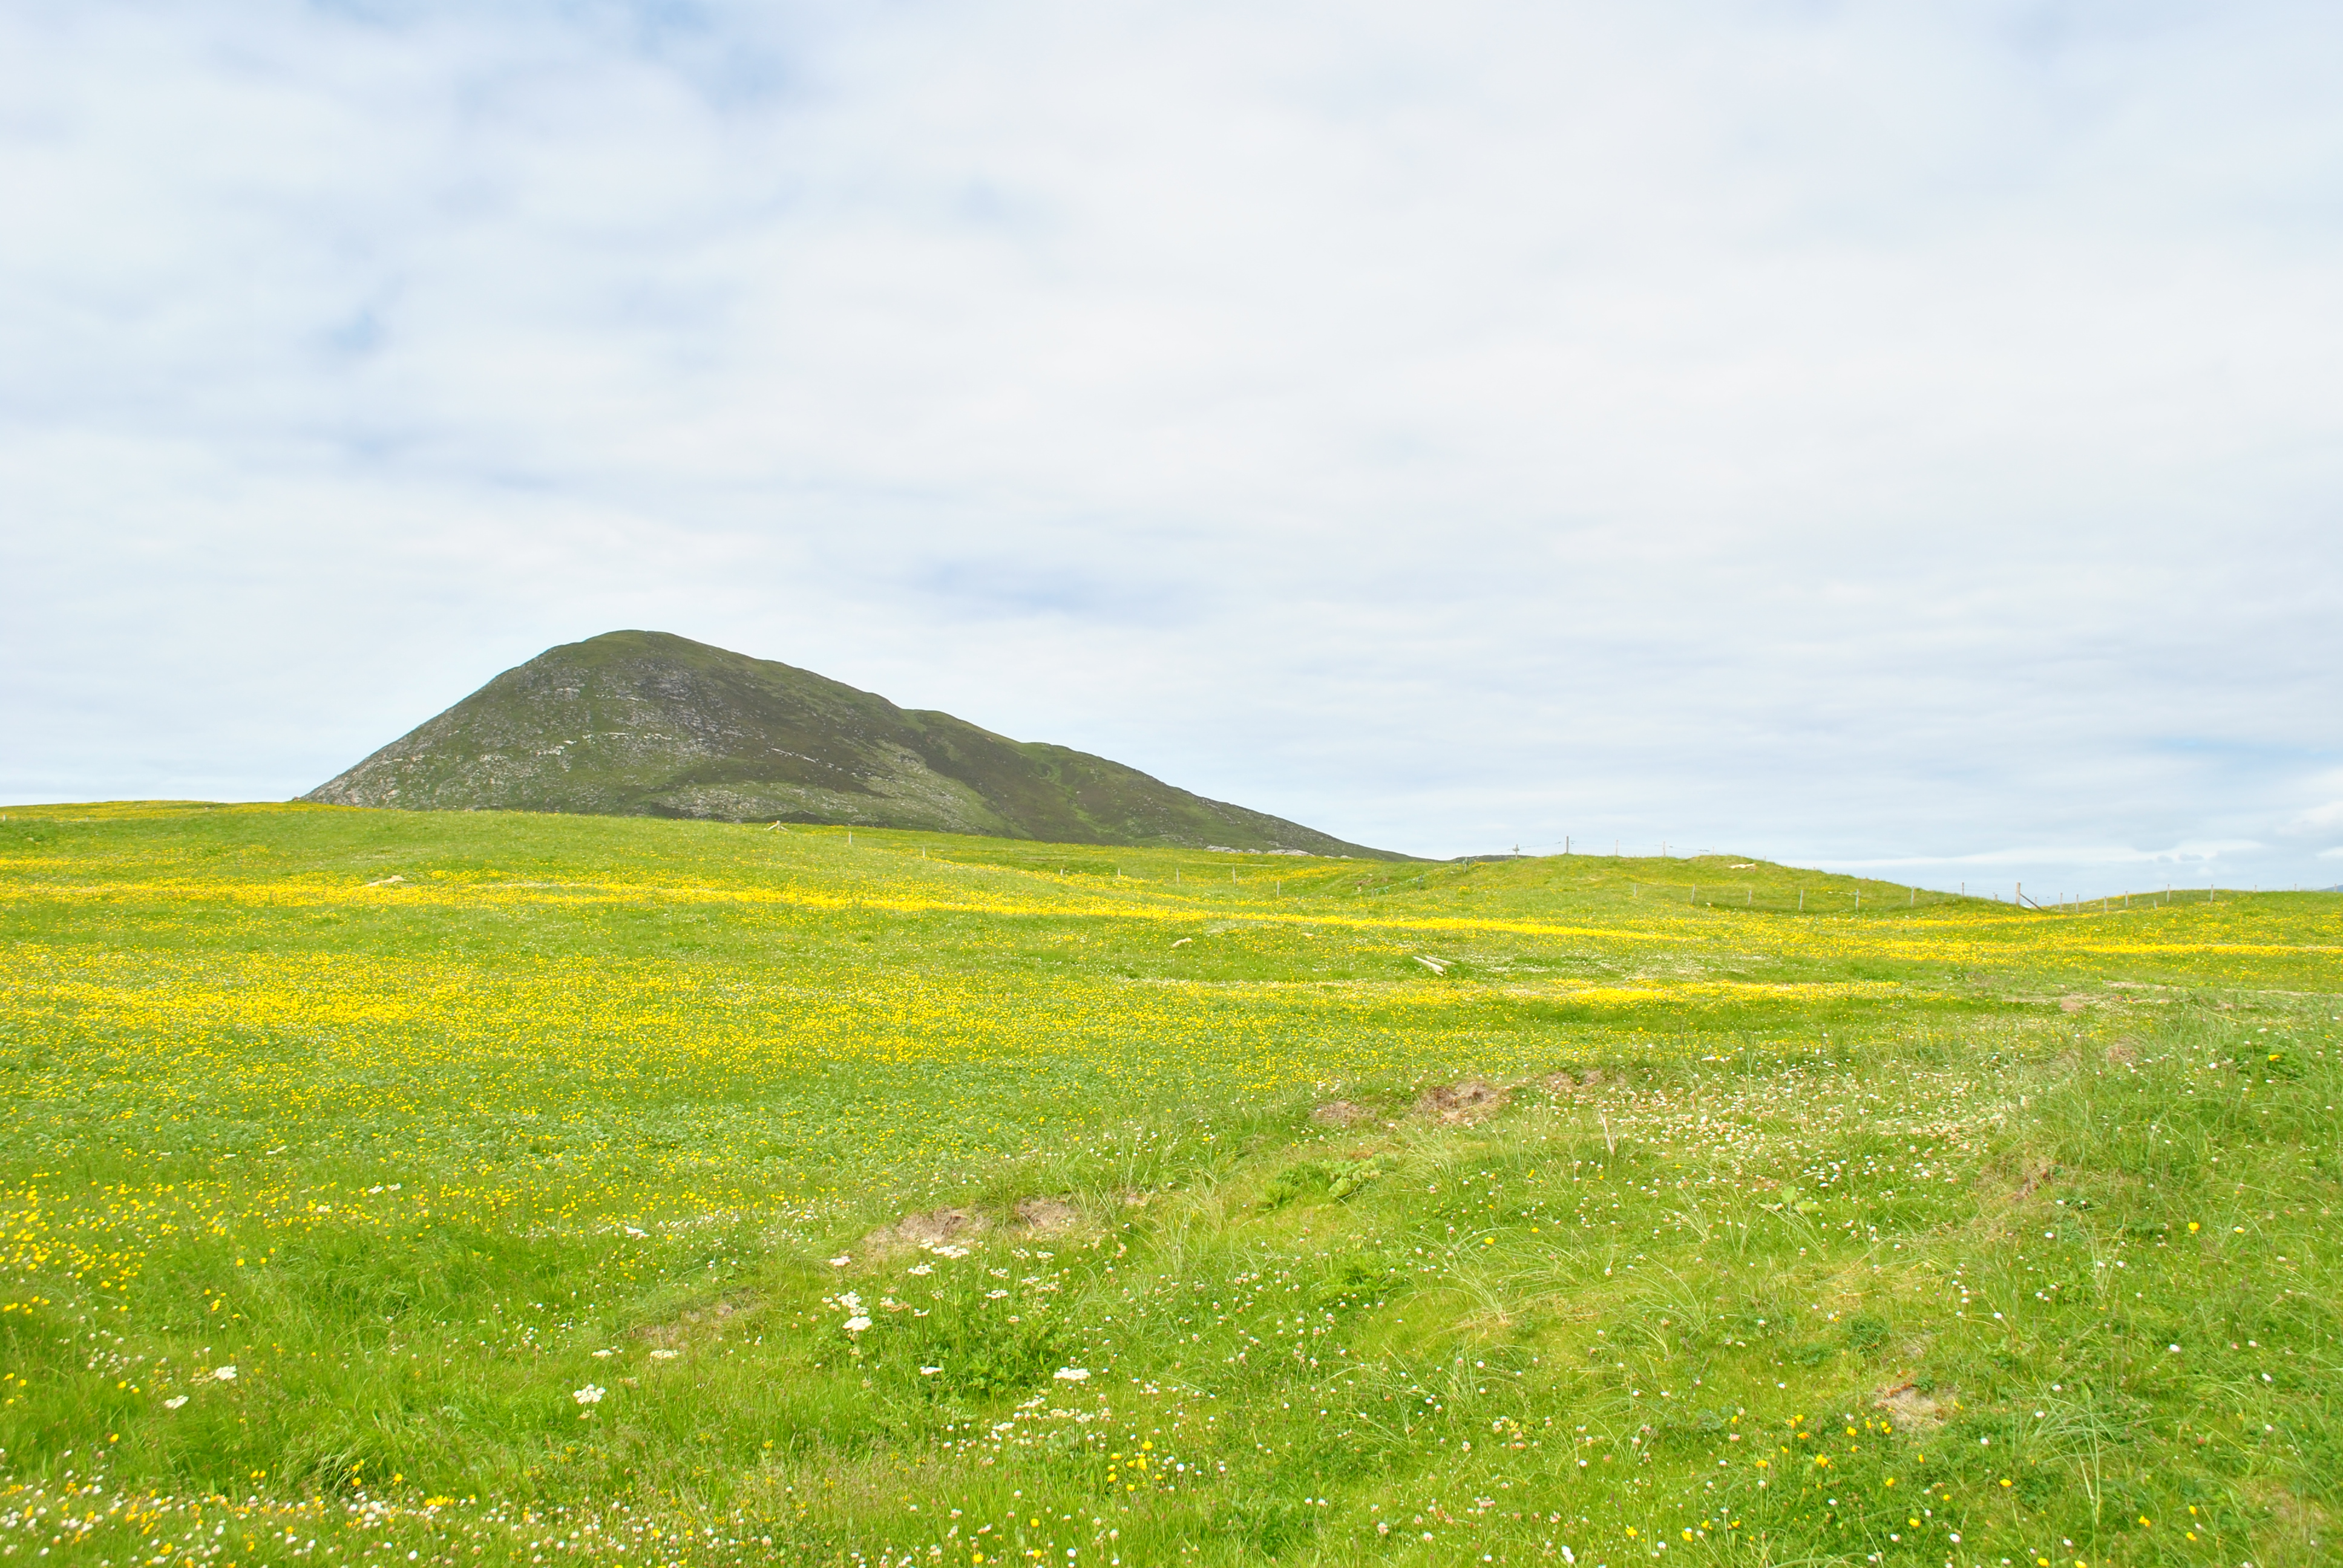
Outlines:
<svg viewBox="0 0 2343 1568"><path fill-rule="evenodd" d="M658 630L546 649L302 799L1403 858Z"/></svg>

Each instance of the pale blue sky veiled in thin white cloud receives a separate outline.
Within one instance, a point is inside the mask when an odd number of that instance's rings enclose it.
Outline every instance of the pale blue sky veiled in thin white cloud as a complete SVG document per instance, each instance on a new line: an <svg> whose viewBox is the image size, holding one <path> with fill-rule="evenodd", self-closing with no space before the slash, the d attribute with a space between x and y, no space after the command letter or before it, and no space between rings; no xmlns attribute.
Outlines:
<svg viewBox="0 0 2343 1568"><path fill-rule="evenodd" d="M2343 884L2343 9L0 7L0 802L672 630L1420 855Z"/></svg>

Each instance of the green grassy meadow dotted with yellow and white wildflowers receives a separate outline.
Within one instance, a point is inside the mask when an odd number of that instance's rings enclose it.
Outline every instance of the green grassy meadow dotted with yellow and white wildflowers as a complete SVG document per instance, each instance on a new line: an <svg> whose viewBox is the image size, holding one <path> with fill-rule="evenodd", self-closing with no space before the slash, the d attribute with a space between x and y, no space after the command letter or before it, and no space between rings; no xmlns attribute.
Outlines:
<svg viewBox="0 0 2343 1568"><path fill-rule="evenodd" d="M9 809L0 1559L2334 1561L2193 898Z"/></svg>

